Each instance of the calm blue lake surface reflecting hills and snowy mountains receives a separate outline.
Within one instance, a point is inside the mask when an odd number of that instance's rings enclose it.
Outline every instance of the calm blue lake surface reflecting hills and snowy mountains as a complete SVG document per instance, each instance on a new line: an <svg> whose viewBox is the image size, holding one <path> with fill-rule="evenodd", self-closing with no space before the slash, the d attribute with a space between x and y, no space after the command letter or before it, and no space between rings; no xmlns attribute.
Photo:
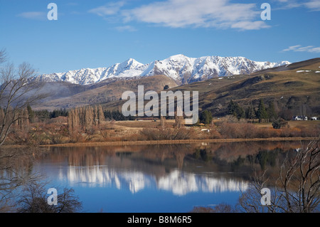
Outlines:
<svg viewBox="0 0 320 227"><path fill-rule="evenodd" d="M236 204L253 169L272 169L294 142L50 147L34 170L73 188L83 212L188 212Z"/></svg>

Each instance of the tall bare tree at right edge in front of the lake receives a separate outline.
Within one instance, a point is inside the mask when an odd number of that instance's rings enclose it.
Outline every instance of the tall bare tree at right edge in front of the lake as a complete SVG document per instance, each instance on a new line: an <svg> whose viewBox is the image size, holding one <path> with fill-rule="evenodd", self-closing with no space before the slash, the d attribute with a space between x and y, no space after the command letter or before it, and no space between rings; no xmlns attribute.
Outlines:
<svg viewBox="0 0 320 227"><path fill-rule="evenodd" d="M302 147L293 159L284 161L279 184L287 211L309 213L317 208L320 199L319 139Z"/></svg>

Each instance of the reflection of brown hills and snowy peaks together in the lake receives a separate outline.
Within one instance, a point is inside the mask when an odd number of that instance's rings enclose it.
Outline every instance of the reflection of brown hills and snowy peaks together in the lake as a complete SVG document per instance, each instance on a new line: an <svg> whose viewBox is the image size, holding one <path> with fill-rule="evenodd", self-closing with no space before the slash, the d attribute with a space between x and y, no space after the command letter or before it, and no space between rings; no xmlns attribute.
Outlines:
<svg viewBox="0 0 320 227"><path fill-rule="evenodd" d="M191 192L245 191L252 169L272 169L299 142L56 147L50 163L70 186ZM282 154L282 155L280 155ZM44 160L44 159L43 159ZM41 161L40 161L41 162Z"/></svg>

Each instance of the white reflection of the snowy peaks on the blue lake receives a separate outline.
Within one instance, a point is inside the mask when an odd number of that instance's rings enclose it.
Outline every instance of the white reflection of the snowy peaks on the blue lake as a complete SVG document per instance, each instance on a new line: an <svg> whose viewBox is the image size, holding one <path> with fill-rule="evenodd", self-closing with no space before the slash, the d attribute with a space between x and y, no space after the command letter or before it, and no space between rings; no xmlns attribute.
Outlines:
<svg viewBox="0 0 320 227"><path fill-rule="evenodd" d="M111 186L127 189L132 194L151 188L171 191L174 195L183 196L191 192L224 192L245 191L247 181L214 177L210 174L193 174L174 169L164 176L156 177L142 171L127 171L107 166L68 167L66 172L60 169L59 179L68 181L72 186L83 184L90 187Z"/></svg>

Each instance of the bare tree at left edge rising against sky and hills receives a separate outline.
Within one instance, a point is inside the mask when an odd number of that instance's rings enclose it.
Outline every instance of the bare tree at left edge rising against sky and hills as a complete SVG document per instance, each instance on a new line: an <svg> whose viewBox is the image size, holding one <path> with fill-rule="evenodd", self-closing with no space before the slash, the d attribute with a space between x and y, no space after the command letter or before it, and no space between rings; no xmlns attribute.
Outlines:
<svg viewBox="0 0 320 227"><path fill-rule="evenodd" d="M6 51L0 51L0 63L6 61ZM37 80L31 80L36 76L30 64L21 63L16 68L14 64L7 63L0 69L0 147L4 144L12 125L25 117L19 114L25 110L28 105L32 105L43 97L39 91L42 83Z"/></svg>

